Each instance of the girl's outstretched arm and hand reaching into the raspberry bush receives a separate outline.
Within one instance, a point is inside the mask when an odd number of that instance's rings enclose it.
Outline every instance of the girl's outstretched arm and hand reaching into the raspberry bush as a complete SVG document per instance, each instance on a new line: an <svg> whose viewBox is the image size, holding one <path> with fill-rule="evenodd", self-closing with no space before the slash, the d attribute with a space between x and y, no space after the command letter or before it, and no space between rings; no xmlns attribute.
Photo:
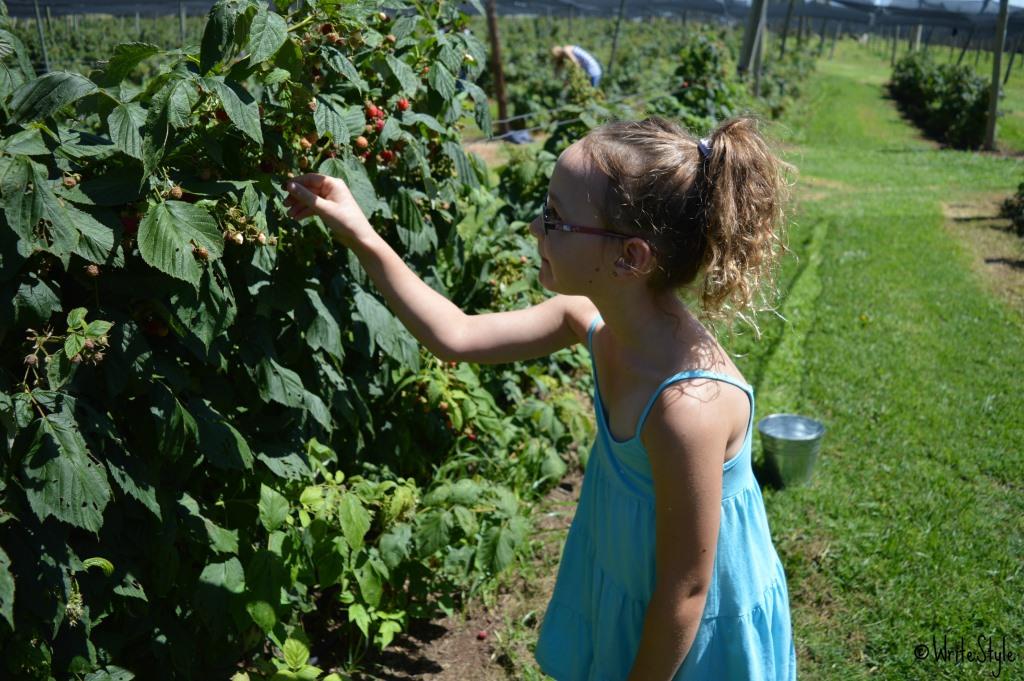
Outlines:
<svg viewBox="0 0 1024 681"><path fill-rule="evenodd" d="M555 296L525 309L469 315L409 268L367 220L345 183L319 174L286 185L289 215L318 215L335 241L352 250L388 307L431 353L478 364L551 354L579 342L596 308L583 296ZM584 322L583 320L586 318Z"/></svg>

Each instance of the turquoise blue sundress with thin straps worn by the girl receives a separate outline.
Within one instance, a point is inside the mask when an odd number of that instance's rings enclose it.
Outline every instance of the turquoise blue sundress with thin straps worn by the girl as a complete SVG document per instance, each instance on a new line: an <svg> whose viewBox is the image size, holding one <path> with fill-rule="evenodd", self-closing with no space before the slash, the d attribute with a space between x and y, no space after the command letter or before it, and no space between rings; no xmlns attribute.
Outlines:
<svg viewBox="0 0 1024 681"><path fill-rule="evenodd" d="M640 440L660 391L689 378L731 383L751 400L746 439L722 465L722 515L700 626L673 681L790 681L797 655L785 572L775 553L761 487L751 468L754 390L732 377L689 371L666 379L640 416L636 435L615 439L601 403L593 336L597 439L591 450L575 517L541 626L535 655L557 681L623 681L640 647L654 588L654 491Z"/></svg>

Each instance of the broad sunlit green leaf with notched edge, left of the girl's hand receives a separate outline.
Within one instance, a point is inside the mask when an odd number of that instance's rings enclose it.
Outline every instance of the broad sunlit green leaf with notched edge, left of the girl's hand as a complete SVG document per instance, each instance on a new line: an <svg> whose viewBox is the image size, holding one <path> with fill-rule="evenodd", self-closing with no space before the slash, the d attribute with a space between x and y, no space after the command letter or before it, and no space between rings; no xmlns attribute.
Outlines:
<svg viewBox="0 0 1024 681"><path fill-rule="evenodd" d="M155 204L138 226L142 259L198 287L203 266L193 254L191 242L205 247L211 257L220 257L224 252L224 240L216 220L198 205L183 201Z"/></svg>

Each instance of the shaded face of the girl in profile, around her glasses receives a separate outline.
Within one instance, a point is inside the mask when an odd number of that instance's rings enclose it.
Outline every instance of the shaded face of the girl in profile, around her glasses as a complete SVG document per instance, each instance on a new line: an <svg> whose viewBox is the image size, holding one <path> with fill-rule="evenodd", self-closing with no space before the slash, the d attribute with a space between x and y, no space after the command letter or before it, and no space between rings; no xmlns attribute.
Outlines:
<svg viewBox="0 0 1024 681"><path fill-rule="evenodd" d="M562 152L548 185L548 209L552 217L568 224L606 228L597 206L604 198L607 178L590 163L581 142ZM591 295L604 284L618 250L608 248L611 240L568 231L544 233L538 216L530 223L541 254L539 279L544 288L565 295Z"/></svg>

